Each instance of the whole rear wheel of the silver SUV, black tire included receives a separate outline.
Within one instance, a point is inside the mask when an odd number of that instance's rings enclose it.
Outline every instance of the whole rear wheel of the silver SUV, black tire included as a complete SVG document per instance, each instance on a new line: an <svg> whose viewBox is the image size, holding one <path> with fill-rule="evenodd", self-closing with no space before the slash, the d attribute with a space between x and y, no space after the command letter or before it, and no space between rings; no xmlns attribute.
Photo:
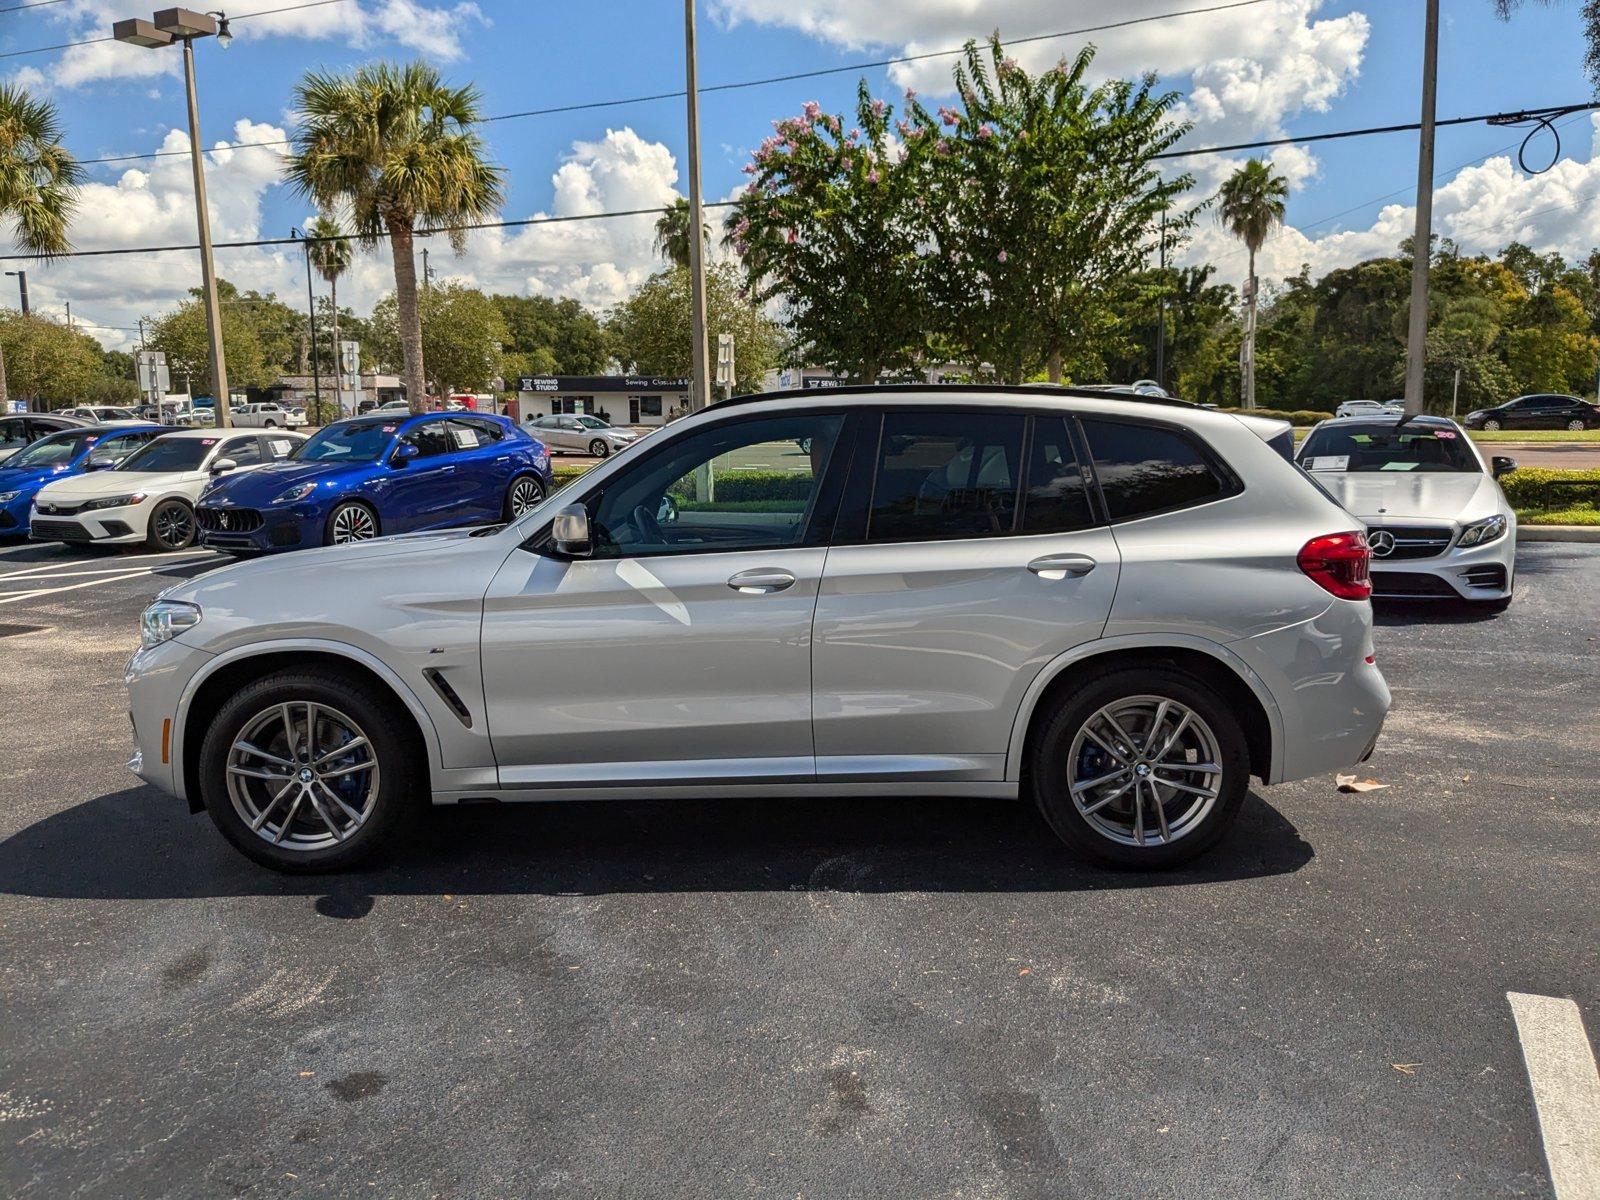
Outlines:
<svg viewBox="0 0 1600 1200"><path fill-rule="evenodd" d="M1162 709L1162 704L1168 707ZM1142 779L1133 789L1141 797L1138 814L1126 790L1112 795L1123 778L1112 778L1120 763L1102 746L1125 752L1130 747L1106 723L1102 714L1109 709L1122 710L1123 733L1134 742L1125 778ZM1179 710L1187 710L1187 726L1178 731L1176 744L1157 747L1166 750L1160 758L1166 765L1150 766L1142 755L1147 747L1139 739L1150 738L1154 742L1150 734L1160 736L1160 731L1173 736L1179 720L1162 714L1176 715ZM1152 728L1149 722L1157 715L1162 722ZM1117 720L1117 712L1112 718ZM1158 870L1205 853L1234 824L1250 787L1250 754L1232 707L1203 678L1178 667L1112 667L1078 682L1034 720L1027 768L1038 811L1067 846L1114 867ZM1091 723L1096 733L1104 731L1104 742L1090 734L1086 726ZM1214 762L1208 762L1213 754ZM1195 765L1189 766L1189 762ZM1141 763L1147 773L1134 776ZM1219 770L1198 770L1208 765ZM1096 779L1106 782L1085 787ZM1200 787L1206 795L1154 786L1168 779ZM1085 789L1082 806L1074 800L1074 784ZM1147 789L1154 798L1144 798ZM1163 790L1170 792L1165 798ZM1162 818L1168 824L1166 840L1162 837ZM1138 842L1141 832L1142 845Z"/></svg>

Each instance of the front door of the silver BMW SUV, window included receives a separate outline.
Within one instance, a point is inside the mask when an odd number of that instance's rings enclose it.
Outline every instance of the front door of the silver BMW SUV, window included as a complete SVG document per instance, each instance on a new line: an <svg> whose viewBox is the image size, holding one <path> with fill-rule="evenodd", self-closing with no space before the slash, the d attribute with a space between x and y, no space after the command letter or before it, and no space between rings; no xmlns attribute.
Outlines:
<svg viewBox="0 0 1600 1200"><path fill-rule="evenodd" d="M592 554L510 555L482 653L504 787L813 778L842 426L750 418L666 440L584 498Z"/></svg>

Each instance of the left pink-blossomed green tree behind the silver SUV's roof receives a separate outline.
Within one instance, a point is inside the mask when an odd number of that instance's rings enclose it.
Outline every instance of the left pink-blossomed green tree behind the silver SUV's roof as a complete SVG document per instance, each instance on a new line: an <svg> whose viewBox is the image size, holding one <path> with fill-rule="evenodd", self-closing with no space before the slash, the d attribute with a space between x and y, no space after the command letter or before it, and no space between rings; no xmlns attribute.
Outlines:
<svg viewBox="0 0 1600 1200"><path fill-rule="evenodd" d="M923 149L896 144L866 82L851 125L813 101L773 128L726 232L750 293L786 306L802 362L866 382L914 365L934 328Z"/></svg>

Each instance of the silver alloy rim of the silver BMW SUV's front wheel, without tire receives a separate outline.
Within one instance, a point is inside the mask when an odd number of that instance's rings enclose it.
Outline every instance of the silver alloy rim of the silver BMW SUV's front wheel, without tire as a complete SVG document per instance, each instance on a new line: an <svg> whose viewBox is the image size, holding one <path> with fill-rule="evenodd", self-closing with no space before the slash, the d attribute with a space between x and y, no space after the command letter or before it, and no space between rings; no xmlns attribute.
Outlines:
<svg viewBox="0 0 1600 1200"><path fill-rule="evenodd" d="M378 757L362 728L314 701L251 717L227 752L227 797L264 842L322 850L347 842L378 802Z"/></svg>

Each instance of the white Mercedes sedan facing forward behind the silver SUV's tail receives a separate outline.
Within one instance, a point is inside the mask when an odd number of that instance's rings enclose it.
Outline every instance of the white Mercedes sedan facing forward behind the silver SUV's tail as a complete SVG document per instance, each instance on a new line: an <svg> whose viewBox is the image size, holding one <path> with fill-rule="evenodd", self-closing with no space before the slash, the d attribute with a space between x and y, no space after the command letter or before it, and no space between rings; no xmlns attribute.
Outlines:
<svg viewBox="0 0 1600 1200"><path fill-rule="evenodd" d="M1376 598L1510 605L1517 514L1498 483L1515 461L1483 454L1442 416L1323 421L1298 461L1366 523Z"/></svg>

